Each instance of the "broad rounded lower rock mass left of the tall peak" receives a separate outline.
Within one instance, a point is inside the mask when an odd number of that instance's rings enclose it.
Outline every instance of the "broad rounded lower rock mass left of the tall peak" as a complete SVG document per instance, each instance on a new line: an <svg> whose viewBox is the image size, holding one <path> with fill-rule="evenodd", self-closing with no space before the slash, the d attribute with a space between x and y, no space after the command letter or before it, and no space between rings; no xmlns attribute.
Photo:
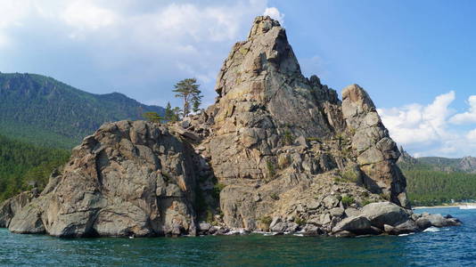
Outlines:
<svg viewBox="0 0 476 267"><path fill-rule="evenodd" d="M195 233L193 150L144 121L105 124L10 230L59 237Z"/></svg>

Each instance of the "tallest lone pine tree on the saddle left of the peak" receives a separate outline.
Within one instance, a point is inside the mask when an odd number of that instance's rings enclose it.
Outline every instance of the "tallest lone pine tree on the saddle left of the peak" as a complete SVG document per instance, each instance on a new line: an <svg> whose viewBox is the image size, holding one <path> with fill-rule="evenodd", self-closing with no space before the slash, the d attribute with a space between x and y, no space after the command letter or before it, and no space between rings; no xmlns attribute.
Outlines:
<svg viewBox="0 0 476 267"><path fill-rule="evenodd" d="M187 117L192 109L194 112L199 110L201 104L201 91L200 85L197 84L197 79L186 78L176 83L173 92L176 93L176 97L182 98L184 101L184 108L182 109L182 115Z"/></svg>

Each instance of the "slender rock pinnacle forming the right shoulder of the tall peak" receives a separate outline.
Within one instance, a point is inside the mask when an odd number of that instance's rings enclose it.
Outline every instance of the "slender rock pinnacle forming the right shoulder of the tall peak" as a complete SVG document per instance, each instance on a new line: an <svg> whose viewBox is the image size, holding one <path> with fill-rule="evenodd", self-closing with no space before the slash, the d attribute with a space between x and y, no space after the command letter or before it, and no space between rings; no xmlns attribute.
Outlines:
<svg viewBox="0 0 476 267"><path fill-rule="evenodd" d="M349 85L342 91L342 115L353 133L352 148L357 152L365 187L408 206L406 179L397 166L400 152L382 125L373 101L360 86Z"/></svg>

